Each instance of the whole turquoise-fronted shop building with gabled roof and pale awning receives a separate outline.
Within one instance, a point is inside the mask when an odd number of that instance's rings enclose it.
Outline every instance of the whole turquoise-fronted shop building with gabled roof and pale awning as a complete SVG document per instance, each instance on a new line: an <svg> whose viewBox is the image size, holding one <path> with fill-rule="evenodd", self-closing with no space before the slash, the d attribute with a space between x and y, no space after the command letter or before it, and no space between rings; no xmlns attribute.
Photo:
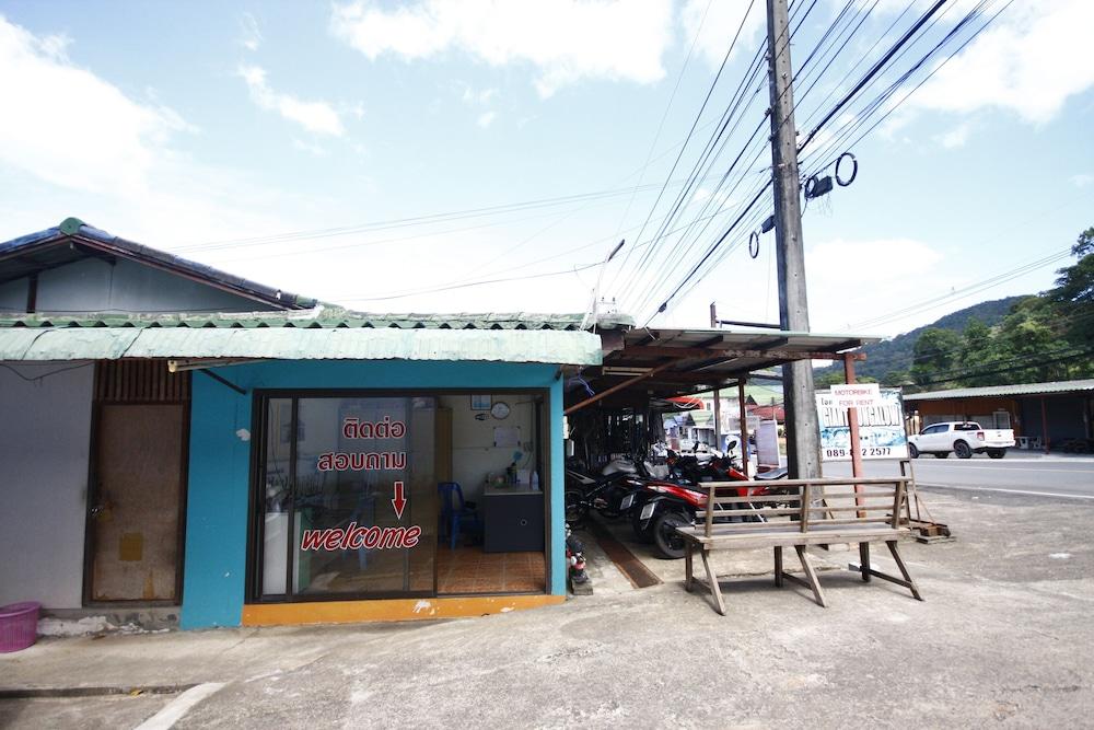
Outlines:
<svg viewBox="0 0 1094 730"><path fill-rule="evenodd" d="M66 223L0 244L0 603L201 628L565 600L581 315L349 312ZM115 301L155 286L112 306L100 268Z"/></svg>

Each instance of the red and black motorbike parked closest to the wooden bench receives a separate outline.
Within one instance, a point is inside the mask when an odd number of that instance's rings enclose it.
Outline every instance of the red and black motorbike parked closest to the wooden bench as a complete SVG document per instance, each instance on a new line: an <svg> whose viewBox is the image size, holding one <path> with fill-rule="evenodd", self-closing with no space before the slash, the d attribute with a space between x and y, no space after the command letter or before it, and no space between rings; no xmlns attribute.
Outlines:
<svg viewBox="0 0 1094 730"><path fill-rule="evenodd" d="M732 448L732 447L731 447ZM684 541L676 532L678 526L695 523L696 512L707 507L703 482L747 482L748 476L728 457L714 457L700 465L694 456L670 454L671 480L648 482L637 498L640 507L631 512L631 528L641 542L652 542L664 558L684 557ZM756 480L773 482L785 478L787 470L779 468L756 476ZM777 486L742 487L738 497L778 495ZM741 515L736 510L718 509L715 522L740 522L745 519L763 521L758 514Z"/></svg>

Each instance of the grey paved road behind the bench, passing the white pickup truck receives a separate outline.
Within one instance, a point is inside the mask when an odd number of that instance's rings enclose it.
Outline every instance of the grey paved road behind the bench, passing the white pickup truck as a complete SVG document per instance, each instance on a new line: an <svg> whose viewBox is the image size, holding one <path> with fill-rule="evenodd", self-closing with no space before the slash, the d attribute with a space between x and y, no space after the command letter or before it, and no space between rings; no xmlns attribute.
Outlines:
<svg viewBox="0 0 1094 730"><path fill-rule="evenodd" d="M912 462L916 482L968 490L1008 491L1052 497L1094 499L1094 457L1019 455L1005 459L974 456L968 460L920 456ZM849 475L849 464L826 464L825 474ZM869 475L897 473L894 462L866 462Z"/></svg>

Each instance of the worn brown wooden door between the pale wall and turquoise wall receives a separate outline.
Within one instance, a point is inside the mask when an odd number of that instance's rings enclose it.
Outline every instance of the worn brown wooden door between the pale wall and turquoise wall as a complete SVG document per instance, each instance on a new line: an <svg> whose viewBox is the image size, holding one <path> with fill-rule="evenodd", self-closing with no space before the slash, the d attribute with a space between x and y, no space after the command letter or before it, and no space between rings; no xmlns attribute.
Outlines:
<svg viewBox="0 0 1094 730"><path fill-rule="evenodd" d="M179 598L184 404L101 404L89 494L90 602Z"/></svg>

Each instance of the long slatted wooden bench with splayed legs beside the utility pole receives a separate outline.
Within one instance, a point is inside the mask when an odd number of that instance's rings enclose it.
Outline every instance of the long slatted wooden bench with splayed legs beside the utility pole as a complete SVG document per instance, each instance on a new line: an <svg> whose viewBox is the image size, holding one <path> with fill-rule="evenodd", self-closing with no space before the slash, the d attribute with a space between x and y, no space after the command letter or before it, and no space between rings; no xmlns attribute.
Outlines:
<svg viewBox="0 0 1094 730"><path fill-rule="evenodd" d="M725 615L725 603L709 555L718 549L770 547L775 551L775 584L790 580L813 591L816 602L827 606L821 582L805 558L808 545L858 543L862 580L872 577L903 586L922 601L916 582L897 549L897 541L907 529L907 485L910 477L788 479L779 482L712 482L708 485L707 507L696 515L697 524L677 528L685 543L684 588L690 591L700 582L693 570L693 554L699 553L707 572L714 610ZM785 495L737 497L742 487L776 487ZM742 521L728 521L742 520ZM893 554L903 578L870 567L870 544L884 542ZM782 548L793 547L801 560L805 579L783 571Z"/></svg>

